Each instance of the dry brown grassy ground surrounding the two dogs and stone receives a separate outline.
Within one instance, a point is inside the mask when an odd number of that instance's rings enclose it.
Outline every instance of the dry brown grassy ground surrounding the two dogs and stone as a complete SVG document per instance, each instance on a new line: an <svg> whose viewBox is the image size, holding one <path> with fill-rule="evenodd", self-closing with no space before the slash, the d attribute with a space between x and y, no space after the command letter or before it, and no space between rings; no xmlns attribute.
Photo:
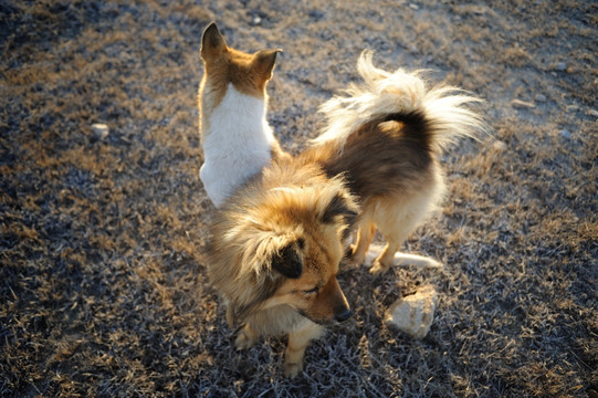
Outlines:
<svg viewBox="0 0 598 398"><path fill-rule="evenodd" d="M406 243L444 270L343 271L355 316L293 380L284 339L233 349L206 277L212 20L284 49L269 119L292 151L364 49L485 98L494 128L444 157L449 196ZM1 1L0 396L597 397L597 25L596 1ZM430 334L387 328L424 284Z"/></svg>

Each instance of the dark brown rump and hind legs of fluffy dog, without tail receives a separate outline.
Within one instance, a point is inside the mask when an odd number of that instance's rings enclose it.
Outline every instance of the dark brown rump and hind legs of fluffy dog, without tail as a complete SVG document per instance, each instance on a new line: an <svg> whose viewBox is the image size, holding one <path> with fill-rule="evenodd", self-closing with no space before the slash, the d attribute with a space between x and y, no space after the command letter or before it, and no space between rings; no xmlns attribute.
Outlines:
<svg viewBox="0 0 598 398"><path fill-rule="evenodd" d="M319 145L304 154L329 176L344 174L360 201L349 262L364 262L378 229L387 247L370 271L388 270L400 244L442 196L442 174L427 132L422 115L394 114L361 126L347 138L343 151ZM430 259L428 265L436 264Z"/></svg>

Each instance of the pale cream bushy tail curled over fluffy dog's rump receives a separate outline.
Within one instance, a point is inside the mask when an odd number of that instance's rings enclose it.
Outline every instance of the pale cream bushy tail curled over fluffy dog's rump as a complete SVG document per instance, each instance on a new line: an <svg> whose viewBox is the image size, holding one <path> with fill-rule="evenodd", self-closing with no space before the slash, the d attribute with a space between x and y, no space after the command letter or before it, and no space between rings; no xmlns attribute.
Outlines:
<svg viewBox="0 0 598 398"><path fill-rule="evenodd" d="M461 136L478 138L481 132L487 132L482 116L470 107L482 100L453 86L428 88L422 71L409 73L398 69L389 73L374 66L371 57L373 53L366 50L357 63L363 84L352 84L345 96L335 96L322 105L327 125L314 139L315 145L335 142L340 149L360 126L387 115L395 119L405 115L406 123L409 115L421 115L427 126L421 134L430 135L437 151Z"/></svg>

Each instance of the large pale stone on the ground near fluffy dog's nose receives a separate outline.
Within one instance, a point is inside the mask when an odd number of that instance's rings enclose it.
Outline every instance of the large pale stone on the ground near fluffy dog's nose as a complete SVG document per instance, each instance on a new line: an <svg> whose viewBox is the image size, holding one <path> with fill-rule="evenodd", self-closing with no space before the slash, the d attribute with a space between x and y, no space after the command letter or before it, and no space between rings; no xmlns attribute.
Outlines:
<svg viewBox="0 0 598 398"><path fill-rule="evenodd" d="M412 337L423 338L430 332L437 305L434 287L426 285L416 294L392 303L386 313L386 325L397 327Z"/></svg>

